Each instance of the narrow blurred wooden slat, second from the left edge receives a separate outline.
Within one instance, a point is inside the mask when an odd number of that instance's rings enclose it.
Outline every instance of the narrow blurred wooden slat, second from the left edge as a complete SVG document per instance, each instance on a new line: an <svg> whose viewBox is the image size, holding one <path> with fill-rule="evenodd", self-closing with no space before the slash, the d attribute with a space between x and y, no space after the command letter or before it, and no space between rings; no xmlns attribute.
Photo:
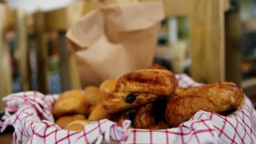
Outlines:
<svg viewBox="0 0 256 144"><path fill-rule="evenodd" d="M24 10L17 11L18 49L21 53L19 69L22 91L30 90L30 67L28 62L27 25Z"/></svg>

